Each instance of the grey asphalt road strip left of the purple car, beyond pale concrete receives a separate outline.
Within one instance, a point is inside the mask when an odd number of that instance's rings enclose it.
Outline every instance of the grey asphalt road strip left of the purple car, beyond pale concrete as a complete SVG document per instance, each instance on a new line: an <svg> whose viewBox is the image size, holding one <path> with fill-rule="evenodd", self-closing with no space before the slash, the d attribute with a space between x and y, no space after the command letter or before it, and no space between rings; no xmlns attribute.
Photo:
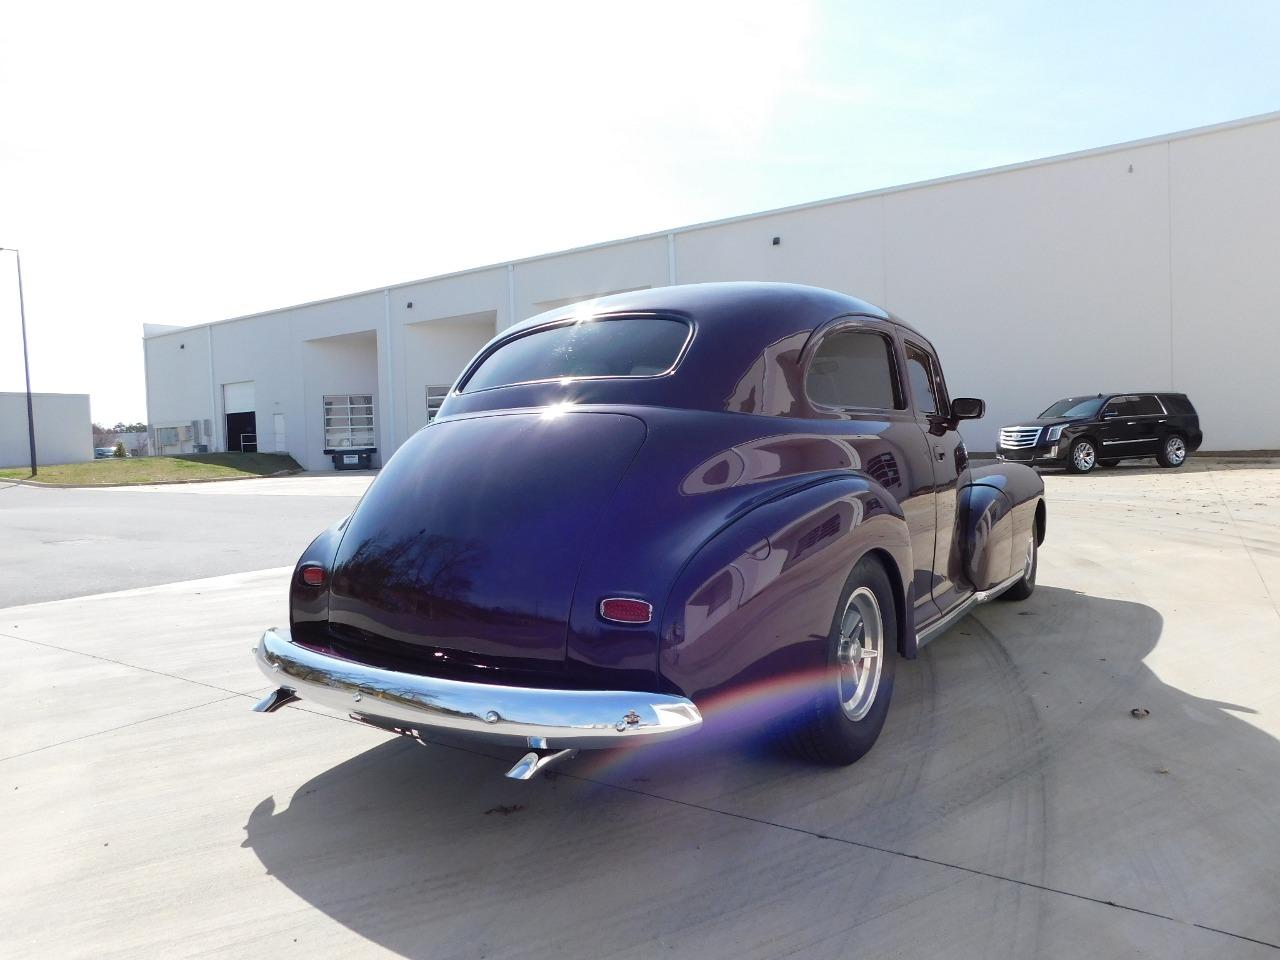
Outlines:
<svg viewBox="0 0 1280 960"><path fill-rule="evenodd" d="M367 484L349 474L99 490L0 481L0 607L291 564Z"/></svg>

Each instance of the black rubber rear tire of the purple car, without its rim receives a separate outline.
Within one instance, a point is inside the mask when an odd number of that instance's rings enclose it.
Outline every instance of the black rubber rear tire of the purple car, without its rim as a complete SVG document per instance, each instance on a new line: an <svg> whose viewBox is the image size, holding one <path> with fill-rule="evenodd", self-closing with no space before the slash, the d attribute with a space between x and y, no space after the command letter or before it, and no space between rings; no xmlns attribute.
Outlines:
<svg viewBox="0 0 1280 960"><path fill-rule="evenodd" d="M842 654L849 652L849 637L844 627L849 622L846 612L851 607L865 605L867 593L874 598L879 614L879 650L877 657L872 658L879 660L879 673L870 690L865 713L854 718L846 707L846 692L851 694L856 707L861 686L850 678L850 660L842 659ZM860 609L855 612L861 616ZM854 649L858 652L870 649L870 644L864 648L860 643L868 637L869 632L864 630ZM859 658L859 663L865 664L868 660ZM864 557L850 571L845 589L840 591L840 603L836 604L831 631L827 635L824 676L818 690L813 691L812 699L801 708L787 731L787 745L792 753L815 763L833 765L847 765L865 755L884 727L888 704L893 696L896 664L897 611L893 607L893 588L879 561ZM854 712L856 713L856 709Z"/></svg>

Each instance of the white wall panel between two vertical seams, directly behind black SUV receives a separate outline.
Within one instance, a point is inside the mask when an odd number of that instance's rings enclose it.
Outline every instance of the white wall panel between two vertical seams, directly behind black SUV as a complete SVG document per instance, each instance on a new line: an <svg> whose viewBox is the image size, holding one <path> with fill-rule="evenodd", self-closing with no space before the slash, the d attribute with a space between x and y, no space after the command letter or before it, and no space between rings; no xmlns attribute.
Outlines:
<svg viewBox="0 0 1280 960"><path fill-rule="evenodd" d="M1059 397L1169 389L1167 196L1157 145L884 197L881 303L987 401L970 448Z"/></svg>

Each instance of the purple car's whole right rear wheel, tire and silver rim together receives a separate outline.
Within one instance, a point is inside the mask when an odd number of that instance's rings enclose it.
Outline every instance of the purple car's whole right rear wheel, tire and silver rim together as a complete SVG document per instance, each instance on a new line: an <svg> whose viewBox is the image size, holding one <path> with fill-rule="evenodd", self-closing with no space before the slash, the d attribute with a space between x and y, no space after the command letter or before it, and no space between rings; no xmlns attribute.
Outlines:
<svg viewBox="0 0 1280 960"><path fill-rule="evenodd" d="M864 557L845 581L827 636L822 681L790 745L819 763L850 764L879 736L893 694L897 612L884 567Z"/></svg>

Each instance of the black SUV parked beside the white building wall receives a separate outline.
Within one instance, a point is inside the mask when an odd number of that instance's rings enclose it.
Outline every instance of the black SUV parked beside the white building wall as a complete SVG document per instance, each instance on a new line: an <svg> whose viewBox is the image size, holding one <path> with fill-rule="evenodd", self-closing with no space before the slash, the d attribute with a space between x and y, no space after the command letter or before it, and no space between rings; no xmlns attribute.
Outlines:
<svg viewBox="0 0 1280 960"><path fill-rule="evenodd" d="M1076 474L1142 457L1180 467L1202 439L1199 415L1185 394L1100 393L1068 397L1034 420L1001 428L996 456Z"/></svg>

